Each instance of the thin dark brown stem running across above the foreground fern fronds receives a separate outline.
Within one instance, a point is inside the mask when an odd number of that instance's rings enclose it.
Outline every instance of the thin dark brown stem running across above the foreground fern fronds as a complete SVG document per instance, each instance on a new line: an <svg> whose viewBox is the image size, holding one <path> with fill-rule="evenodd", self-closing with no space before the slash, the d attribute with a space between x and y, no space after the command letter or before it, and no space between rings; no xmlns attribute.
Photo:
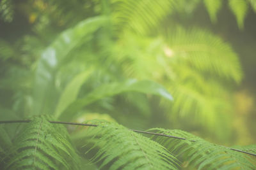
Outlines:
<svg viewBox="0 0 256 170"><path fill-rule="evenodd" d="M3 121L0 121L0 124L12 124L12 123L28 123L28 122L31 122L31 120L3 120ZM80 123L74 123L74 122L58 122L58 121L49 121L51 124L65 124L65 125L83 125L83 126L91 126L91 127L99 127L98 125L93 125L93 124L80 124ZM159 133L154 133L154 132L147 132L147 131L139 131L139 130L134 130L134 129L130 129L131 131L134 131L134 132L138 132L138 133L143 133L143 134L152 134L152 135L156 135L156 136L164 136L164 137L167 137L167 138L175 138L175 139L180 139L180 140L189 140L189 139L186 139L186 138L180 138L180 137L177 137L177 136L171 136L171 135L168 135L168 134L159 134ZM194 140L189 140L191 142L196 142ZM229 148L227 146L224 146L225 148ZM253 155L253 156L256 156L255 153L250 153L250 152L246 152L246 151L243 151L243 150L237 150L235 148L229 148L230 150L234 150L236 152L241 152L241 153L246 153L248 155Z"/></svg>

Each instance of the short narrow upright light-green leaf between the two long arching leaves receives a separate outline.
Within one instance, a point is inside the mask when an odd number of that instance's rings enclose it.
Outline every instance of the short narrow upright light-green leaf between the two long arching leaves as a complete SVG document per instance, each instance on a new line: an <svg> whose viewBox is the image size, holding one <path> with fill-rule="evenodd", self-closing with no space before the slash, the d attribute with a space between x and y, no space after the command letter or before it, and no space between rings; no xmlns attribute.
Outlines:
<svg viewBox="0 0 256 170"><path fill-rule="evenodd" d="M60 97L60 101L55 110L55 117L59 117L61 112L65 110L69 104L74 102L77 98L78 92L83 85L84 81L88 78L92 71L83 71L82 73L77 74L77 76L68 83L67 87L63 91Z"/></svg>

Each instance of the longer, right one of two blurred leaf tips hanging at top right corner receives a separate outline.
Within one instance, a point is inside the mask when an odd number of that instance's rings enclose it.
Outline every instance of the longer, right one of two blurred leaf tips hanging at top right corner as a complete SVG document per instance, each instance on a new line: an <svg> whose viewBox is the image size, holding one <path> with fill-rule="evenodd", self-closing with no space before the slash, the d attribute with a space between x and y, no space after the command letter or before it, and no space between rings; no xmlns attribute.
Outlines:
<svg viewBox="0 0 256 170"><path fill-rule="evenodd" d="M237 25L239 29L244 27L244 18L248 11L248 4L245 0L229 0L230 9L236 15Z"/></svg>

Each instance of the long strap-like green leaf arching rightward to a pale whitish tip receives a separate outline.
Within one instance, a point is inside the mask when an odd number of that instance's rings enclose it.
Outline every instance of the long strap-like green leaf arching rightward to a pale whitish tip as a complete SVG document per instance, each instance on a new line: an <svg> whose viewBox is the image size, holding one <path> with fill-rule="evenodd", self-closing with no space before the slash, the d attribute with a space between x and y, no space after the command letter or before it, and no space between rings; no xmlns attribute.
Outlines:
<svg viewBox="0 0 256 170"><path fill-rule="evenodd" d="M74 101L74 103L70 104L67 110L63 112L62 118L67 119L69 116L71 116L71 114L74 117L74 114L76 114L77 111L81 110L84 106L104 97L115 96L123 92L141 92L144 94L154 94L157 96L161 96L170 101L172 101L173 99L169 92L164 89L163 86L159 85L154 81L127 80L124 82L109 83L98 87L97 89L90 92L90 94L88 94L87 96Z"/></svg>

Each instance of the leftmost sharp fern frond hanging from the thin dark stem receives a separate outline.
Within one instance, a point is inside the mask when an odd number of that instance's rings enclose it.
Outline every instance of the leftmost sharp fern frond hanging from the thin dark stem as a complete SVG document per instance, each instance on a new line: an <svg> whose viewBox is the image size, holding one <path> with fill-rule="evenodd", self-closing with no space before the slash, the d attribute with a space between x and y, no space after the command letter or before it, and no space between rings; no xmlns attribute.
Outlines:
<svg viewBox="0 0 256 170"><path fill-rule="evenodd" d="M79 160L63 125L35 117L20 132L5 169L78 169Z"/></svg>

